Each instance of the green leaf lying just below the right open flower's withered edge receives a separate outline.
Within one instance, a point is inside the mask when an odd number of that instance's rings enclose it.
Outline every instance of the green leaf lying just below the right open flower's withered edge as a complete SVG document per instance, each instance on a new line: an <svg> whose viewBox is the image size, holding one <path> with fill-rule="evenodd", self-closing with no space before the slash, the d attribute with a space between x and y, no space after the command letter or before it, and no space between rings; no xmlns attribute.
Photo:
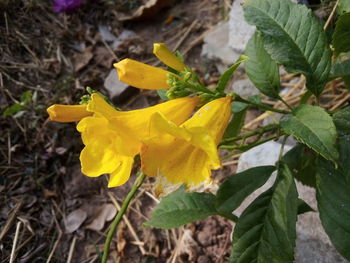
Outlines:
<svg viewBox="0 0 350 263"><path fill-rule="evenodd" d="M161 229L179 227L217 214L215 196L209 193L187 193L181 187L164 197L152 212L152 217L144 223Z"/></svg>

